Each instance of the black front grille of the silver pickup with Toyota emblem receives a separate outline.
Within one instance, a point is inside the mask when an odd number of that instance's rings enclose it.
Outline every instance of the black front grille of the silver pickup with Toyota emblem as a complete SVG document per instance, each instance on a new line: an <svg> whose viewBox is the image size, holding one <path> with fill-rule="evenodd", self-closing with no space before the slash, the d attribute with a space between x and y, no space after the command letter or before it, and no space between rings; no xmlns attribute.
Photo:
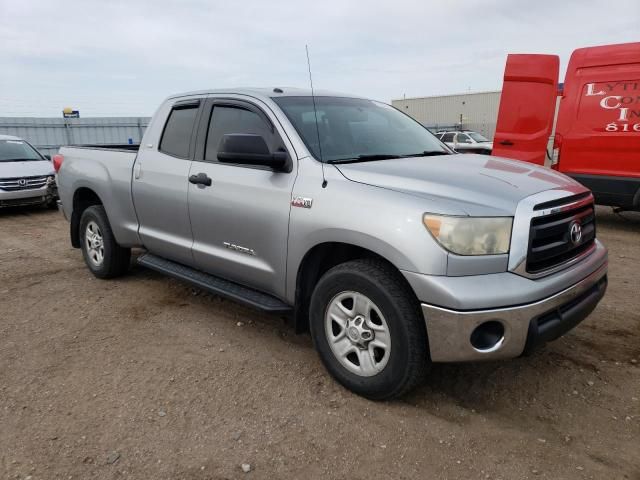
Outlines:
<svg viewBox="0 0 640 480"><path fill-rule="evenodd" d="M580 226L582 237L575 242L571 229ZM575 232L574 232L575 233ZM566 263L587 251L595 242L596 218L593 203L531 220L527 272L540 273Z"/></svg>

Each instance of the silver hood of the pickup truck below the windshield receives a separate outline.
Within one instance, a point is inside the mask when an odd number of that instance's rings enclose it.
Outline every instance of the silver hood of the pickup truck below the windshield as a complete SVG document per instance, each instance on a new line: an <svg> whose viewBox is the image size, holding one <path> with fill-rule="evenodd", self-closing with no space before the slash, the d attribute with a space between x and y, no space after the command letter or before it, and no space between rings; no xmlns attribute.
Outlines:
<svg viewBox="0 0 640 480"><path fill-rule="evenodd" d="M585 188L537 165L477 155L443 155L336 164L349 180L428 199L433 213L511 216L518 202L545 190Z"/></svg>

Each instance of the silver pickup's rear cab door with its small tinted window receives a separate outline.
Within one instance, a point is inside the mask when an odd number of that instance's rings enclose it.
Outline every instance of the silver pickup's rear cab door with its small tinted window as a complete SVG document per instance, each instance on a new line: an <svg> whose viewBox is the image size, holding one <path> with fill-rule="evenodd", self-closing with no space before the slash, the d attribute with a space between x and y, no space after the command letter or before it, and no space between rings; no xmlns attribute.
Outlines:
<svg viewBox="0 0 640 480"><path fill-rule="evenodd" d="M191 265L193 235L187 202L194 130L201 99L170 101L149 126L133 168L139 235L151 253Z"/></svg>

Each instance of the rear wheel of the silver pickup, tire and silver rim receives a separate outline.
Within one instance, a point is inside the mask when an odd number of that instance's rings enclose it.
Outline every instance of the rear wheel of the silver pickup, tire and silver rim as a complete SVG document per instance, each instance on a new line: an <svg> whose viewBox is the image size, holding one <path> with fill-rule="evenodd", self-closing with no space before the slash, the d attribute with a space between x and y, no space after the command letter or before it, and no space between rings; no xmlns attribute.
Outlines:
<svg viewBox="0 0 640 480"><path fill-rule="evenodd" d="M93 205L82 212L79 236L84 261L96 277L114 278L127 272L131 249L116 242L102 205Z"/></svg>

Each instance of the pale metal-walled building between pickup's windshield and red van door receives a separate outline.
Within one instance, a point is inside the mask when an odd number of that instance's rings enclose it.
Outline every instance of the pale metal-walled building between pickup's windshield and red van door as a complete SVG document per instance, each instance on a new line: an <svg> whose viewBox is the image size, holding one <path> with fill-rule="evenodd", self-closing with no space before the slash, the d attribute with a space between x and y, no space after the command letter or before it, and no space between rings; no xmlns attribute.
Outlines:
<svg viewBox="0 0 640 480"><path fill-rule="evenodd" d="M432 129L475 130L492 139L496 130L500 92L465 93L392 100L392 105Z"/></svg>

